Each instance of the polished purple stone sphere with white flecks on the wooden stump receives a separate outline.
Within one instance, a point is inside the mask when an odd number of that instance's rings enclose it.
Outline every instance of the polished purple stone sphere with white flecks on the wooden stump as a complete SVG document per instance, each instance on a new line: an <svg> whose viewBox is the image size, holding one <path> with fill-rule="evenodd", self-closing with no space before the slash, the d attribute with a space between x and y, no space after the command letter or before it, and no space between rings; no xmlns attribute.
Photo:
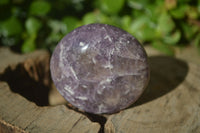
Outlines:
<svg viewBox="0 0 200 133"><path fill-rule="evenodd" d="M147 55L129 33L106 24L89 24L66 35L50 62L60 94L73 106L101 114L134 103L149 81Z"/></svg>

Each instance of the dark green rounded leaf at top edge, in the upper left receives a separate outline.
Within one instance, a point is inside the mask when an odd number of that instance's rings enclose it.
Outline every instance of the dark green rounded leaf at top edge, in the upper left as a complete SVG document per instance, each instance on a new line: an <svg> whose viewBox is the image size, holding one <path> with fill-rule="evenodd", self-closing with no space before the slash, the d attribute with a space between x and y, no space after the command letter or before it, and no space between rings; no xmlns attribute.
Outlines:
<svg viewBox="0 0 200 133"><path fill-rule="evenodd" d="M51 9L51 5L46 1L33 1L30 6L30 14L44 16Z"/></svg>

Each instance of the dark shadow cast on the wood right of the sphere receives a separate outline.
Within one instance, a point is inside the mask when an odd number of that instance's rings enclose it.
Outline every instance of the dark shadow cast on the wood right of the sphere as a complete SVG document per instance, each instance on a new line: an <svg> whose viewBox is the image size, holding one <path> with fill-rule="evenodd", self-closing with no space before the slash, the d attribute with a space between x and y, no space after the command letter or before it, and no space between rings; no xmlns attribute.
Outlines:
<svg viewBox="0 0 200 133"><path fill-rule="evenodd" d="M169 56L152 56L149 58L149 64L149 85L132 107L150 102L172 91L188 73L188 65L184 61Z"/></svg>

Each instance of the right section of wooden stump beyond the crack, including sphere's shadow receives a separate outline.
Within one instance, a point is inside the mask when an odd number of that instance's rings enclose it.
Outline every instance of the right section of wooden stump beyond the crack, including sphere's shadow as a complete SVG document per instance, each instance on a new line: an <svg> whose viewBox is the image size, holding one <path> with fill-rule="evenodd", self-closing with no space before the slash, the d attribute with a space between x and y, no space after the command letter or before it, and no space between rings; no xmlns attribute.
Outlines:
<svg viewBox="0 0 200 133"><path fill-rule="evenodd" d="M148 88L132 107L107 116L105 133L200 133L198 57L191 56L190 61L187 54L184 61L147 52L151 66ZM177 57L185 59L184 55Z"/></svg>

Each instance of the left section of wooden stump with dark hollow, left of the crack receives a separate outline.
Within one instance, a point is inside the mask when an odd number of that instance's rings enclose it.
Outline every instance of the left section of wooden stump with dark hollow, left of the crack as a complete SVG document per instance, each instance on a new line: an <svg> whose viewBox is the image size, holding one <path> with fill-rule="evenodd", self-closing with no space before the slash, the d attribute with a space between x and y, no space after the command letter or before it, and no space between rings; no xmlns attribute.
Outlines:
<svg viewBox="0 0 200 133"><path fill-rule="evenodd" d="M49 54L0 49L0 132L95 133L100 125L65 105L48 105ZM32 102L31 102L32 101Z"/></svg>

